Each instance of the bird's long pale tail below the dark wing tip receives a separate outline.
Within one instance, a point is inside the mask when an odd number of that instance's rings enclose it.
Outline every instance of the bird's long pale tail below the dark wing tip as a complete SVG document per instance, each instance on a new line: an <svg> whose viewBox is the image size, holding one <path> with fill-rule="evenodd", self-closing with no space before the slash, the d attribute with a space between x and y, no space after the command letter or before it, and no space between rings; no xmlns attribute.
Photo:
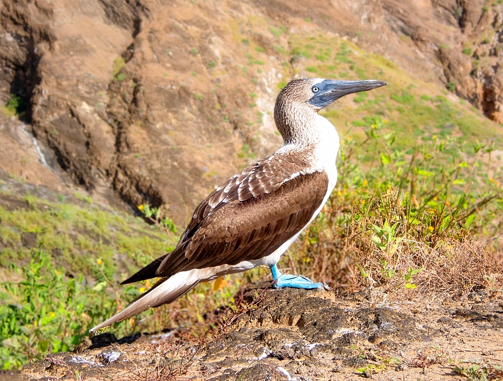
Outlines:
<svg viewBox="0 0 503 381"><path fill-rule="evenodd" d="M179 272L170 278L160 279L147 292L135 299L129 306L119 312L117 315L104 321L103 323L91 328L91 332L97 331L100 328L108 327L109 325L128 319L138 315L140 312L147 310L150 307L158 307L165 303L171 303L180 296L189 292L200 281L205 280L205 274L202 270L194 269L189 271Z"/></svg>

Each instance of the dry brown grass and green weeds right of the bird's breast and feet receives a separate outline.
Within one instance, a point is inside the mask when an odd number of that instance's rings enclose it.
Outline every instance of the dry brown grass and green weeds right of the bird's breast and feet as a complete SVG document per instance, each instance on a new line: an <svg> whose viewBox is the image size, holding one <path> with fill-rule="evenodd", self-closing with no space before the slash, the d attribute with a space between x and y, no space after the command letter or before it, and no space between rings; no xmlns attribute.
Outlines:
<svg viewBox="0 0 503 381"><path fill-rule="evenodd" d="M340 182L284 262L342 294L501 292L502 173L487 160L491 151L433 136L403 153L392 149L382 118L371 123L381 160L362 169L361 147L344 142Z"/></svg>

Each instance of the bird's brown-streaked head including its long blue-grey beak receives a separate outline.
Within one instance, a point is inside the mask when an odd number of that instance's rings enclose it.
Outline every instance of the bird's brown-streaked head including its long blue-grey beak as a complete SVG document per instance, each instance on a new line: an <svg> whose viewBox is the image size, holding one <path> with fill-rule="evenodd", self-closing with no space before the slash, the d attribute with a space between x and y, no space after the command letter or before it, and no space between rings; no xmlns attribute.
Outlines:
<svg viewBox="0 0 503 381"><path fill-rule="evenodd" d="M313 114L345 95L386 85L377 80L335 81L303 78L290 81L281 90L274 107L276 125L287 140L295 124L306 125Z"/></svg>

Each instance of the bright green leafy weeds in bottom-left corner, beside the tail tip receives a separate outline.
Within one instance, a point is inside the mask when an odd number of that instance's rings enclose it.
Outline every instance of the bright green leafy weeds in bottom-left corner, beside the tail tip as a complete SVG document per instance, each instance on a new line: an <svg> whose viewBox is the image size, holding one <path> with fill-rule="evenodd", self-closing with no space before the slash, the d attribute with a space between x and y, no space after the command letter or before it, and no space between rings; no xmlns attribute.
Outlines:
<svg viewBox="0 0 503 381"><path fill-rule="evenodd" d="M107 284L90 288L83 276L66 278L64 269L54 267L43 250L33 253L29 265L12 265L11 271L18 273L21 280L0 283L5 301L0 304L3 369L76 346L92 324L108 317L122 300L104 297L100 291ZM134 286L128 287L124 295L132 299L138 291ZM128 327L123 329L127 331Z"/></svg>

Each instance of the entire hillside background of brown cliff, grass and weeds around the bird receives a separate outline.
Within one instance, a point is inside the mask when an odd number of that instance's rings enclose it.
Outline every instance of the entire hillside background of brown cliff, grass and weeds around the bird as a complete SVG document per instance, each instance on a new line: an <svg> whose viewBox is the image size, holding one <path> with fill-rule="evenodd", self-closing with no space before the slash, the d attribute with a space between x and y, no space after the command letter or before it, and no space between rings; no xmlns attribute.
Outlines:
<svg viewBox="0 0 503 381"><path fill-rule="evenodd" d="M118 283L281 146L274 102L299 77L388 86L322 110L342 137L340 183L283 266L341 293L500 291L502 0L0 7L5 368L77 345L148 286ZM200 334L217 324L205 312L266 276L201 285L118 330Z"/></svg>

